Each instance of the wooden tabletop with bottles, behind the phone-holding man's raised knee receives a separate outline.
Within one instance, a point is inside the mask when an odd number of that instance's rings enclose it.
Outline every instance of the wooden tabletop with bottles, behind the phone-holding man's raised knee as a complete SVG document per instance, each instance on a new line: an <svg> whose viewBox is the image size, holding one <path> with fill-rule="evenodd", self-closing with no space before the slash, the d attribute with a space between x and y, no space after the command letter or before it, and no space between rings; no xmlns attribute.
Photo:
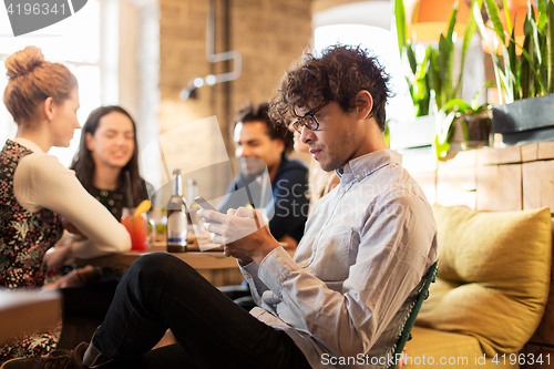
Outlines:
<svg viewBox="0 0 554 369"><path fill-rule="evenodd" d="M165 245L156 243L145 250L131 250L124 254L112 254L92 259L75 259L74 264L129 268L142 255L156 252L166 253ZM294 253L295 250L289 250L290 255L294 255ZM225 256L223 252L187 252L172 253L172 255L186 262L216 287L239 285L243 281L243 274L238 268L237 260L234 257Z"/></svg>

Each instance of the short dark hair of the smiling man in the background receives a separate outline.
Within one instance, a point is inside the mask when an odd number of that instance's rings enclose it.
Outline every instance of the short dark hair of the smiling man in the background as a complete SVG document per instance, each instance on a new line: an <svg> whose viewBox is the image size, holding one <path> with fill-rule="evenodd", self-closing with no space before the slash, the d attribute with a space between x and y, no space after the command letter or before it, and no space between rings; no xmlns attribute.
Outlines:
<svg viewBox="0 0 554 369"><path fill-rule="evenodd" d="M233 120L233 130L240 123L263 122L267 126L267 135L271 140L281 140L285 143L285 153L290 153L295 146L293 132L285 124L276 123L269 117L269 104L267 102L253 104L249 102L242 107Z"/></svg>

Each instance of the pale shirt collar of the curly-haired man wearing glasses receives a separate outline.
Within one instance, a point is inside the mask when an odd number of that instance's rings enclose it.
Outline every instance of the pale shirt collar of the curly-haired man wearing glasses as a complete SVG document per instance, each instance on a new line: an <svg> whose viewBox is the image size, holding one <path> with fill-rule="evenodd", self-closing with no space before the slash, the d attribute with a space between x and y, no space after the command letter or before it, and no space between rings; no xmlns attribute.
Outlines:
<svg viewBox="0 0 554 369"><path fill-rule="evenodd" d="M402 155L390 148L378 150L376 152L356 157L349 161L339 174L340 184L346 185L351 181L360 181L386 165L402 164Z"/></svg>

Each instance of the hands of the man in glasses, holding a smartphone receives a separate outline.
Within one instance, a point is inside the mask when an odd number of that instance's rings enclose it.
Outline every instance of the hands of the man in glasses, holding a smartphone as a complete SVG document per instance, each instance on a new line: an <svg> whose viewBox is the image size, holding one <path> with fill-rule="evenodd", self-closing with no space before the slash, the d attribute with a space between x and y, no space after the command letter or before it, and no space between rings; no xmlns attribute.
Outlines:
<svg viewBox="0 0 554 369"><path fill-rule="evenodd" d="M227 214L214 211L198 211L206 223L204 228L212 233L212 240L223 245L225 255L237 258L243 265L253 260L260 264L264 257L279 243L271 236L260 212L239 207Z"/></svg>

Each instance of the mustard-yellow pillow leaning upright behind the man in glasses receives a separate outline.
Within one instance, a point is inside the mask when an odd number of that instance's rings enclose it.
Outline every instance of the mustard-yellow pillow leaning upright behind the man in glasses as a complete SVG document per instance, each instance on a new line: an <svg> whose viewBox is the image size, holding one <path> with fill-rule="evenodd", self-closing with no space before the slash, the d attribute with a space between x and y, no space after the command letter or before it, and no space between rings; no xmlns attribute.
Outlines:
<svg viewBox="0 0 554 369"><path fill-rule="evenodd" d="M516 352L544 312L552 235L548 208L474 212L433 205L439 278L417 324L474 336L483 352Z"/></svg>

